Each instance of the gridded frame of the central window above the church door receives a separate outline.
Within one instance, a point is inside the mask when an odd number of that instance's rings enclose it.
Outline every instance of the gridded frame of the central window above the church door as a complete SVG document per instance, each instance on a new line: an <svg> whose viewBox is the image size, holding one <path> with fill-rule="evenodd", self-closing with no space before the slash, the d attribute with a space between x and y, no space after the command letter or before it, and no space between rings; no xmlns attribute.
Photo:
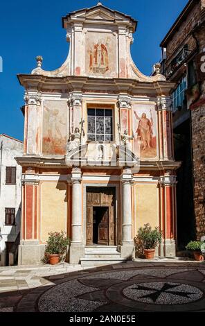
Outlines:
<svg viewBox="0 0 205 326"><path fill-rule="evenodd" d="M88 110L95 110L95 115L89 115L88 114ZM98 116L97 114L96 114L96 111L97 110L103 110L104 111L104 113L103 113L103 115L102 116ZM110 110L110 111L112 111L112 115L106 115L105 114L105 110ZM89 132L89 130L88 130L88 128L89 128L89 126L88 126L88 119L89 119L89 117L94 117L95 118L95 133L91 133L91 132ZM96 132L96 130L97 130L97 128L96 128L96 126L97 126L97 120L96 120L96 117L103 117L103 123L104 123L104 133L103 134L98 134L97 132ZM109 117L109 118L112 118L112 133L110 133L110 134L107 134L106 132L105 132L105 118L106 117ZM92 139L89 139L89 135L94 135L95 136L95 140L92 140ZM103 135L104 136L104 140L97 140L97 135ZM105 138L106 138L106 136L110 136L110 140L106 140ZM113 108L103 108L103 107L98 107L97 105L96 105L96 107L87 107L87 141L88 142L99 142L99 143L110 143L110 142L112 142L112 141L114 141L114 109Z"/></svg>

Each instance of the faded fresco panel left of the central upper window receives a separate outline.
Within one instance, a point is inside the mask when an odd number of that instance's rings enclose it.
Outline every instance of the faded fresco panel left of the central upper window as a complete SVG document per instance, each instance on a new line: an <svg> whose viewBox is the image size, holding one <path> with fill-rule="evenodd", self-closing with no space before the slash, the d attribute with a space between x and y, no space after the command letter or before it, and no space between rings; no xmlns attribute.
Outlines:
<svg viewBox="0 0 205 326"><path fill-rule="evenodd" d="M67 138L67 104L65 101L45 101L43 113L44 155L65 155Z"/></svg>

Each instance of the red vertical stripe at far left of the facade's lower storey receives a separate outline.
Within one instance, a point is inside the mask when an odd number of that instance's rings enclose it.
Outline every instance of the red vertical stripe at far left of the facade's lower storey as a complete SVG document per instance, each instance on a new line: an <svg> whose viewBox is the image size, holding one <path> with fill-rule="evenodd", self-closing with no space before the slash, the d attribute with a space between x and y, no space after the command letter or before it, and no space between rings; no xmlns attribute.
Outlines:
<svg viewBox="0 0 205 326"><path fill-rule="evenodd" d="M26 185L26 239L32 239L33 230L33 186Z"/></svg>

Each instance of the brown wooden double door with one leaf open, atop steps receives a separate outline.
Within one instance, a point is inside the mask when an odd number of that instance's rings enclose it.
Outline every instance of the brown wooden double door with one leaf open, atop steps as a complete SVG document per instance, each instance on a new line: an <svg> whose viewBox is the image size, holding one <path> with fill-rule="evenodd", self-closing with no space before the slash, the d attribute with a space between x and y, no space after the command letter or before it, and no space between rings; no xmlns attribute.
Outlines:
<svg viewBox="0 0 205 326"><path fill-rule="evenodd" d="M87 245L115 245L115 188L87 189Z"/></svg>

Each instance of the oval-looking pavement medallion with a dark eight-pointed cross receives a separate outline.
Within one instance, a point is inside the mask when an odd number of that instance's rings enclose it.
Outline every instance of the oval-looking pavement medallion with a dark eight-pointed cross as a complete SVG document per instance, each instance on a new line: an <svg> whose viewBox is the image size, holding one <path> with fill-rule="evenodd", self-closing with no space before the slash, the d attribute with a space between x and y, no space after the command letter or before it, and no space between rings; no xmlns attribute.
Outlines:
<svg viewBox="0 0 205 326"><path fill-rule="evenodd" d="M203 293L194 286L171 282L138 283L127 286L123 294L131 300L151 304L183 304L202 298Z"/></svg>

